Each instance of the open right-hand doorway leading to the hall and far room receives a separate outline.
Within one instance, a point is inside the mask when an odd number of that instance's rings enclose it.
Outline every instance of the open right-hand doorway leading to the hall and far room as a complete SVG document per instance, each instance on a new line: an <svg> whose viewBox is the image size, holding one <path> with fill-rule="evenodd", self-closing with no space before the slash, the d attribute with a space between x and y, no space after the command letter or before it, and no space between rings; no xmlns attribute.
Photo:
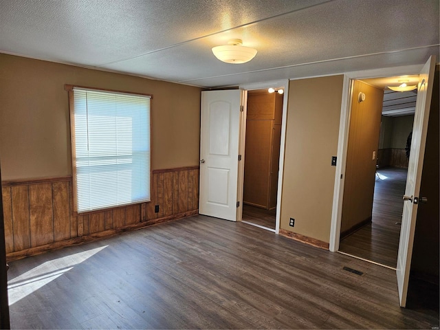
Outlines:
<svg viewBox="0 0 440 330"><path fill-rule="evenodd" d="M417 99L417 89L388 89L403 78L417 86L418 75L353 84L339 247L394 269Z"/></svg>

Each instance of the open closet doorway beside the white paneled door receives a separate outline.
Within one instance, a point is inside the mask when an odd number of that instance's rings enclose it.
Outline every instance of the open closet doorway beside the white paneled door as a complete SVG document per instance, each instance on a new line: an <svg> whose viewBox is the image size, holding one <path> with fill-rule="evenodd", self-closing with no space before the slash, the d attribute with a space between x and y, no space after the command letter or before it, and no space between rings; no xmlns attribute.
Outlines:
<svg viewBox="0 0 440 330"><path fill-rule="evenodd" d="M241 221L276 232L284 87L248 90Z"/></svg>

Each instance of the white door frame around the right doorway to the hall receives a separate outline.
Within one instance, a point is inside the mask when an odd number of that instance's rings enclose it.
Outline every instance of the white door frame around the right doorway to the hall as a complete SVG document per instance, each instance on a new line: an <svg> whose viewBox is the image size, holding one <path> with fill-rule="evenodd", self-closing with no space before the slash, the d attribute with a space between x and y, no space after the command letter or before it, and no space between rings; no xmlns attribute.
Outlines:
<svg viewBox="0 0 440 330"><path fill-rule="evenodd" d="M354 80L366 78L382 78L389 76L402 76L410 74L420 74L423 64L407 65L401 67L388 67L383 69L371 69L356 72L346 72L344 74L344 84L342 87L342 102L340 128L338 137L338 162L336 163L335 186L333 192L333 208L331 212L330 243L329 250L337 252L339 250L340 228L342 217L342 199L344 197L345 167L347 164L347 147L349 144L349 124L351 117L351 100L353 98Z"/></svg>

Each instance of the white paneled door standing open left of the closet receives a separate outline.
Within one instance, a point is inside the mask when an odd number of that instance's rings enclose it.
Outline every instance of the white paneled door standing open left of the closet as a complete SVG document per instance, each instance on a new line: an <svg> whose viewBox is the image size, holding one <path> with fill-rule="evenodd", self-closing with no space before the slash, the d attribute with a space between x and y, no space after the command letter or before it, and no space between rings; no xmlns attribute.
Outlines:
<svg viewBox="0 0 440 330"><path fill-rule="evenodd" d="M241 90L201 92L199 213L236 221Z"/></svg>

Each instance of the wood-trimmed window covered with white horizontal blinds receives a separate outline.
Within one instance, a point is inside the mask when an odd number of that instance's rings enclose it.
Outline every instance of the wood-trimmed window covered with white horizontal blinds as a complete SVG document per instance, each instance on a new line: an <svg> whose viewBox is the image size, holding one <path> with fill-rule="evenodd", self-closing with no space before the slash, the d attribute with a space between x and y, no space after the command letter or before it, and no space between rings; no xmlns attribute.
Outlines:
<svg viewBox="0 0 440 330"><path fill-rule="evenodd" d="M150 201L151 96L69 89L76 212Z"/></svg>

